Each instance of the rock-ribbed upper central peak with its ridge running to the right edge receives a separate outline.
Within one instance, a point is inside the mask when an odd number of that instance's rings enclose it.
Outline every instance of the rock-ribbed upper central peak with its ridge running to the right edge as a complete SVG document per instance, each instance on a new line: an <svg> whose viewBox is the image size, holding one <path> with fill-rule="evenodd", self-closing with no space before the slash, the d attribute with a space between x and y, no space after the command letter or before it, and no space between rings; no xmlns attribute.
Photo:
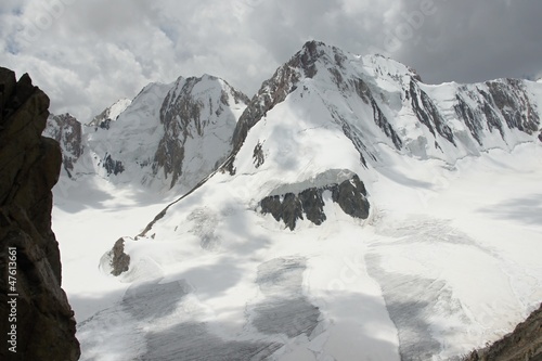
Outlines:
<svg viewBox="0 0 542 361"><path fill-rule="evenodd" d="M324 123L319 127L338 125L364 165L383 160L376 144L447 162L491 147L511 149L530 139L540 125L538 90L530 88L514 79L428 86L393 60L310 41L251 99L225 166L234 171L235 153L248 131L283 102L306 111L321 107L318 117Z"/></svg>

